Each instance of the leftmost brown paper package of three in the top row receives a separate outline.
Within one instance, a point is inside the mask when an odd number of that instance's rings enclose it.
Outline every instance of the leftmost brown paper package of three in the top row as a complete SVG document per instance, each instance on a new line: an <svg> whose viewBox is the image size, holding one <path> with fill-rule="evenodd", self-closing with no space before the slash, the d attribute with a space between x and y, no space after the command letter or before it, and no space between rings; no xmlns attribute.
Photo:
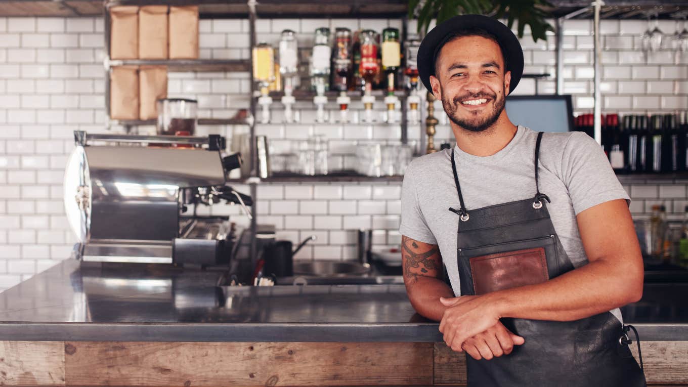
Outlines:
<svg viewBox="0 0 688 387"><path fill-rule="evenodd" d="M138 7L110 9L110 58L138 58Z"/></svg>

